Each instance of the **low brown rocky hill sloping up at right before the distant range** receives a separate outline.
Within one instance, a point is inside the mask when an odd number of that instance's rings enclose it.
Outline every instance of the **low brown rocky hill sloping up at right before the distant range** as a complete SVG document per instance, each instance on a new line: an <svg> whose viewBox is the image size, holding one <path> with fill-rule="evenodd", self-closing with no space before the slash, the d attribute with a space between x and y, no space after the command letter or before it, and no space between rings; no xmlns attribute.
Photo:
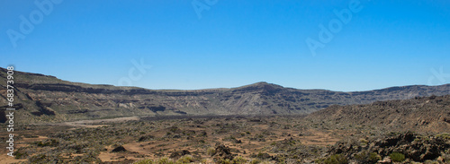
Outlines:
<svg viewBox="0 0 450 164"><path fill-rule="evenodd" d="M450 95L331 106L307 116L335 125L365 125L389 131L449 132Z"/></svg>

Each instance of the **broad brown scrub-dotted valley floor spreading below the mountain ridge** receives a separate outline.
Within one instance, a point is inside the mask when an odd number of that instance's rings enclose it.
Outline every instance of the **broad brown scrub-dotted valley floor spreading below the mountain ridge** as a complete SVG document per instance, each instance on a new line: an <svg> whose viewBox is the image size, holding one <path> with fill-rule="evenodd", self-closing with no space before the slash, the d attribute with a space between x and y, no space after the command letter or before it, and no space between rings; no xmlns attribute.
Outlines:
<svg viewBox="0 0 450 164"><path fill-rule="evenodd" d="M402 140L408 140L404 138L410 135L418 144L428 140L440 146L429 148L437 152L416 159L418 162L450 162L448 134L387 132L380 127L336 125L302 116L161 120L124 117L20 125L15 134L15 158L6 156L6 150L2 149L0 163L132 163L146 159L193 163L328 163L333 158L344 158L344 163L365 163L366 160L357 158L365 155L362 153L365 151L369 154L366 159L372 158L367 160L369 163L386 159L397 151L406 156L403 163L411 163L414 159L409 158L410 151L395 148L406 145ZM7 134L0 136L5 141ZM392 139L398 141L382 144Z"/></svg>

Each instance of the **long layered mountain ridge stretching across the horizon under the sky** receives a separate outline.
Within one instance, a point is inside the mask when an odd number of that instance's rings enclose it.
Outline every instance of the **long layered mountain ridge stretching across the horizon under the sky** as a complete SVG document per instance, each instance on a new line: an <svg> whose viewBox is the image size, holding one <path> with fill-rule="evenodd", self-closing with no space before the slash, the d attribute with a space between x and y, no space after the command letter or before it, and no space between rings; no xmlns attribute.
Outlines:
<svg viewBox="0 0 450 164"><path fill-rule="evenodd" d="M2 110L7 104L5 78L6 70L0 68ZM230 89L148 90L67 82L18 71L14 86L16 117L23 123L126 116L309 114L332 105L450 94L450 84L354 92L298 90L267 82ZM4 112L0 112L0 121L4 120Z"/></svg>

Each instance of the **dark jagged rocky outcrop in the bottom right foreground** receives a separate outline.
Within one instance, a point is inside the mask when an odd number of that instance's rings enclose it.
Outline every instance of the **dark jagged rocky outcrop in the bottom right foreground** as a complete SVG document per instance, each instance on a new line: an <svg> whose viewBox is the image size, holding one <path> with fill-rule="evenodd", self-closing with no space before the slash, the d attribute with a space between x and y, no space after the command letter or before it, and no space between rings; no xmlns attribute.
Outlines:
<svg viewBox="0 0 450 164"><path fill-rule="evenodd" d="M361 152L370 152L383 157L379 163L390 163L388 157L392 153L399 153L407 160L426 161L438 160L439 157L450 155L450 136L448 135L417 135L411 132L405 134L395 134L383 138L372 138L362 144L358 141L337 142L329 148L329 154L344 154L349 159L358 160ZM364 159L359 159L364 160ZM376 160L375 160L376 161Z"/></svg>

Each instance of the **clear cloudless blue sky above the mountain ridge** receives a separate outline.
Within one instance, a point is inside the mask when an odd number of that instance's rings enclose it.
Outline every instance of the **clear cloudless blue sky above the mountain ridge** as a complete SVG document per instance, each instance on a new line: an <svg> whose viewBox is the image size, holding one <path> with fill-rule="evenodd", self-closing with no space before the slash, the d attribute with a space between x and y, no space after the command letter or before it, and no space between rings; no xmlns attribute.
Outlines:
<svg viewBox="0 0 450 164"><path fill-rule="evenodd" d="M148 89L271 82L366 91L450 83L446 0L34 2L0 1L1 67ZM334 10L352 17L344 23ZM320 24L329 29L330 22L332 39L312 55L306 40L320 41ZM151 68L139 72L133 60Z"/></svg>

